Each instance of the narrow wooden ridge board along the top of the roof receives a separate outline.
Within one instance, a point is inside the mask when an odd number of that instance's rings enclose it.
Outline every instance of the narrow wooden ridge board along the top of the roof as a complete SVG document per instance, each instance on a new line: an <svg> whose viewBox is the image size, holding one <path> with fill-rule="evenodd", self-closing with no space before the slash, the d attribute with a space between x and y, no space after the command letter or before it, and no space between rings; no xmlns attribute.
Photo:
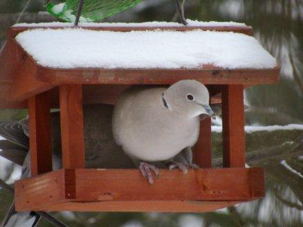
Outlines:
<svg viewBox="0 0 303 227"><path fill-rule="evenodd" d="M46 26L13 26L8 30L8 37L16 37L19 33L24 30L37 29L37 28L46 28ZM51 26L51 29L61 29L66 28L63 26ZM78 26L78 28L89 29L89 30L111 30L115 32L130 32L132 30L176 30L176 31L186 31L186 30L215 30L219 32L234 32L242 33L245 35L253 35L251 26Z"/></svg>

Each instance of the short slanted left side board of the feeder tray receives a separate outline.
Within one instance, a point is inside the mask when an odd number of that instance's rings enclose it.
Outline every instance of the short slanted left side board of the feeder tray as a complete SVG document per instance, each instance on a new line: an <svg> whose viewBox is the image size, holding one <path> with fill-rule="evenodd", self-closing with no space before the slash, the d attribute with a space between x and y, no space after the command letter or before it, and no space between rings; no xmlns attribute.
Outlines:
<svg viewBox="0 0 303 227"><path fill-rule="evenodd" d="M40 206L69 201L73 197L66 197L72 191L65 188L68 177L66 170L57 170L37 177L22 179L15 182L16 210L35 210Z"/></svg>

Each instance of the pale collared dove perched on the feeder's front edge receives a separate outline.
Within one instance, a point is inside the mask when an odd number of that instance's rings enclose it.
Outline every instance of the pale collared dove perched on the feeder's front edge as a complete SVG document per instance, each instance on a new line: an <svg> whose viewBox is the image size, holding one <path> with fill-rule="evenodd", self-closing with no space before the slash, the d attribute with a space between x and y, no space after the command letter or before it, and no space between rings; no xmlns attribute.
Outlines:
<svg viewBox="0 0 303 227"><path fill-rule="evenodd" d="M170 87L131 87L122 92L113 110L113 138L134 161L149 183L158 168L147 162L172 161L182 150L191 152L199 136L201 114L214 116L208 89L196 80ZM172 161L170 167L196 167Z"/></svg>

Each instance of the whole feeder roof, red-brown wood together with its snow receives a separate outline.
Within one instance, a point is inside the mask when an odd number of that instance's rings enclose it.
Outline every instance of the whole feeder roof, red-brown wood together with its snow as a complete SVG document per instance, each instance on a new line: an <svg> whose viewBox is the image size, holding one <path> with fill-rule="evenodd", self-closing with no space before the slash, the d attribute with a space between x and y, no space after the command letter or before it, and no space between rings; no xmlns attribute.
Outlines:
<svg viewBox="0 0 303 227"><path fill-rule="evenodd" d="M26 99L60 84L192 79L252 86L279 80L277 62L251 36L250 26L188 22L12 26L0 53L0 107L26 107Z"/></svg>

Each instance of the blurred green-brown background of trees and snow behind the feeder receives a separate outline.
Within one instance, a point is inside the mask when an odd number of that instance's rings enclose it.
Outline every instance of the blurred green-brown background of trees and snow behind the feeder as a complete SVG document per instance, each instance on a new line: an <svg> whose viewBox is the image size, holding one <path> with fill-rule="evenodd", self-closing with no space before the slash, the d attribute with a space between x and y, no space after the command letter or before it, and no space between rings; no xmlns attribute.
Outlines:
<svg viewBox="0 0 303 227"><path fill-rule="evenodd" d="M0 44L27 1L0 1ZM54 1L56 2L56 1ZM60 1L57 1L60 2ZM175 21L174 0L144 0L104 21ZM278 84L245 91L246 125L303 124L303 1L187 0L185 17L237 21L252 26L255 37L282 66ZM21 22L55 21L43 0L32 0ZM0 110L0 121L26 116L26 110ZM220 119L213 122L220 125ZM213 132L214 163L221 158L221 133ZM266 197L201 214L57 212L70 226L303 226L303 130L246 132L248 165L266 168ZM20 167L0 158L0 177L13 183ZM0 221L12 196L0 189ZM50 226L42 220L38 226Z"/></svg>

